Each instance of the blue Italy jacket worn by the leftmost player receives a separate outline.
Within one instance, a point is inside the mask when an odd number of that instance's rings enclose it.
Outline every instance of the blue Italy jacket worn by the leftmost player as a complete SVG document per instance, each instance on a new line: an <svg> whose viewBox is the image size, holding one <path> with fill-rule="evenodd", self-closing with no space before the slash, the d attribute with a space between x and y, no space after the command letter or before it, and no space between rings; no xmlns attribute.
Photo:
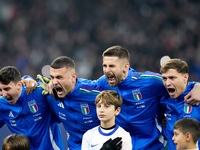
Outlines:
<svg viewBox="0 0 200 150"><path fill-rule="evenodd" d="M14 105L0 96L0 127L4 124L12 133L27 136L31 150L64 150L59 124L51 117L47 96L42 95L41 88L27 95L22 87Z"/></svg>

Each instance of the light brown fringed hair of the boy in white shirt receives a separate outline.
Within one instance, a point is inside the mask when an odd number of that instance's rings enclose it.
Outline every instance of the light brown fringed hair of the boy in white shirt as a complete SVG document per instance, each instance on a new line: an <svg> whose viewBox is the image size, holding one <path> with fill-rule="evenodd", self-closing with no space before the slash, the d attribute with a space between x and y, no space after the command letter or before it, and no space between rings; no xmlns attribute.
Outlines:
<svg viewBox="0 0 200 150"><path fill-rule="evenodd" d="M102 91L99 95L97 95L95 105L97 105L99 101L108 105L114 105L115 109L121 107L123 103L122 97L118 94L118 92L113 90Z"/></svg>

